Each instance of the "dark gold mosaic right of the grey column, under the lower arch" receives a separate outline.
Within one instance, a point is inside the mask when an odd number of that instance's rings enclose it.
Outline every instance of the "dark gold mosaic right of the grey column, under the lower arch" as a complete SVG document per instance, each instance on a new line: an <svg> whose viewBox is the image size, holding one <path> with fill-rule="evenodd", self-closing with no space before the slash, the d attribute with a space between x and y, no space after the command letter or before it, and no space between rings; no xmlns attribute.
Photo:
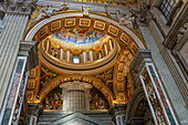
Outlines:
<svg viewBox="0 0 188 125"><path fill-rule="evenodd" d="M90 108L91 110L108 110L109 105L103 94L95 87L90 92Z"/></svg>

